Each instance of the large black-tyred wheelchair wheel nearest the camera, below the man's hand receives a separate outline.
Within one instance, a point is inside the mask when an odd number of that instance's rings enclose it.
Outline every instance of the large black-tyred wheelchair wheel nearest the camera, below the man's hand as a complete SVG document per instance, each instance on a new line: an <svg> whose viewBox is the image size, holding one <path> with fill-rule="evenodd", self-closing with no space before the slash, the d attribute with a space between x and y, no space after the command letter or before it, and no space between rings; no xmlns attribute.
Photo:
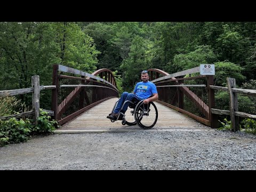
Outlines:
<svg viewBox="0 0 256 192"><path fill-rule="evenodd" d="M154 102L144 104L140 101L134 109L135 122L142 129L151 129L157 122L158 111Z"/></svg>

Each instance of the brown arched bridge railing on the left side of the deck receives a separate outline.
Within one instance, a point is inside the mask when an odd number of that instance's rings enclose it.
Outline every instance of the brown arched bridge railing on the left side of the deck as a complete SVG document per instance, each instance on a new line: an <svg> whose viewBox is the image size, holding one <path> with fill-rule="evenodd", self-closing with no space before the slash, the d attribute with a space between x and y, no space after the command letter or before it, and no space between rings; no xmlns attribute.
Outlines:
<svg viewBox="0 0 256 192"><path fill-rule="evenodd" d="M52 79L52 84L57 87L52 90L52 110L60 125L102 101L118 97L116 81L109 69L99 69L89 74L78 69L54 65Z"/></svg>

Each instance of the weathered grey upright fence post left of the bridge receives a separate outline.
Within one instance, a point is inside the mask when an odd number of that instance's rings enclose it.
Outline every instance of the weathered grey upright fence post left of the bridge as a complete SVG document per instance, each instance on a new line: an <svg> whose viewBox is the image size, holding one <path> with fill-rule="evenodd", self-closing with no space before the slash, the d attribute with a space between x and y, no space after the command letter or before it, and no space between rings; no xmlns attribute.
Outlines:
<svg viewBox="0 0 256 192"><path fill-rule="evenodd" d="M34 75L31 77L31 83L32 87L34 87L34 93L32 95L32 105L33 105L33 110L35 112L34 119L35 119L35 125L38 124L37 118L39 117L39 97L40 97L40 90L39 90L39 75Z"/></svg>

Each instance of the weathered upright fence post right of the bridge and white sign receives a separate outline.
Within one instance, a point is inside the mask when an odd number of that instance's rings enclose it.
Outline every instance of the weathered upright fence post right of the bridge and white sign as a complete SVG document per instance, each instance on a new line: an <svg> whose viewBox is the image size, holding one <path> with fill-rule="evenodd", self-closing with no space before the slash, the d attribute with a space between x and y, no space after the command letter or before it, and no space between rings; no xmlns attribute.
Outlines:
<svg viewBox="0 0 256 192"><path fill-rule="evenodd" d="M238 111L237 93L233 93L232 88L236 88L236 79L227 77L228 93L229 93L229 110L231 126L234 132L240 131L239 129L239 117L235 115L235 111Z"/></svg>

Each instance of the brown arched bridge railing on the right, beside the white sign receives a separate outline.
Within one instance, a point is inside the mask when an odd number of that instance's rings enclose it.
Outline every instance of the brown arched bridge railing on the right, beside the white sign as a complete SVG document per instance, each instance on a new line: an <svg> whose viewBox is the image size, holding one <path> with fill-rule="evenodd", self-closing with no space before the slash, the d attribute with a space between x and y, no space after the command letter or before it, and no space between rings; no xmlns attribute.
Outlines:
<svg viewBox="0 0 256 192"><path fill-rule="evenodd" d="M156 84L159 99L157 102L180 111L205 125L216 127L217 116L211 113L214 108L214 91L212 75L183 77L200 72L199 67L168 74L159 69L148 69L150 81ZM162 77L159 77L162 76Z"/></svg>

